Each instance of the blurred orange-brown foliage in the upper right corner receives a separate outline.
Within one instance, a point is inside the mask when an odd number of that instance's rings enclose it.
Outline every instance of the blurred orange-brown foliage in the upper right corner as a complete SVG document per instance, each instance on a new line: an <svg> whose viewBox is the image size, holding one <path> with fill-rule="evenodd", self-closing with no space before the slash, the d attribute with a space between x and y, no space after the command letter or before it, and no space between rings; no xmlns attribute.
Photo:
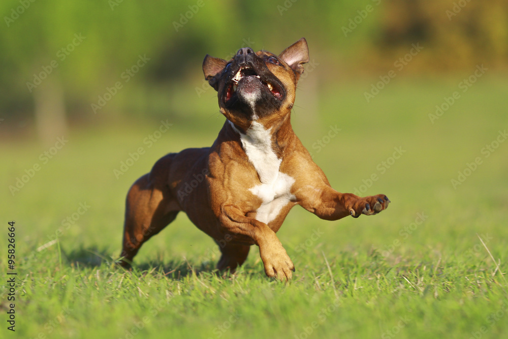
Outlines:
<svg viewBox="0 0 508 339"><path fill-rule="evenodd" d="M377 44L390 55L425 46L420 68L435 72L492 67L508 60L508 2L393 0L385 3Z"/></svg>

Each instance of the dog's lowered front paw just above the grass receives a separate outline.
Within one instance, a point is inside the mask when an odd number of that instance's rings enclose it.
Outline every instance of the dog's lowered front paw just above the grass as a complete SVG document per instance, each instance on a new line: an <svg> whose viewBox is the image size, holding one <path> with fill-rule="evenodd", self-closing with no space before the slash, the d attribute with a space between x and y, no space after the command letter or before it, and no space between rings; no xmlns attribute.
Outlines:
<svg viewBox="0 0 508 339"><path fill-rule="evenodd" d="M261 260L265 266L265 273L270 278L278 280L291 280L295 265L282 247L282 245L259 249Z"/></svg>

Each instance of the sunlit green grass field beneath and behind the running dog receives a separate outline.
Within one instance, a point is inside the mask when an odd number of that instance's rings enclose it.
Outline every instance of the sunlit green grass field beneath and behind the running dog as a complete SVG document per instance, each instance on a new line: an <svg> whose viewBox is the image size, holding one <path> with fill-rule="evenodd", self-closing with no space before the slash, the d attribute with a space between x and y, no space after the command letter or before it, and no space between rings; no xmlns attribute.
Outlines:
<svg viewBox="0 0 508 339"><path fill-rule="evenodd" d="M460 77L396 80L369 103L370 82L314 91L302 82L293 126L332 186L392 203L336 222L292 210L277 233L296 266L289 284L265 276L255 247L236 275L218 276L216 245L183 213L145 244L133 272L113 264L132 182L167 152L213 142L224 119L213 115L212 90L161 96L173 126L151 147L144 139L160 122L99 115L48 160L40 155L50 147L31 138L2 139L0 269L9 271L14 220L18 274L15 332L7 330L8 286L0 287L1 336L506 336L508 85L485 76L464 93ZM454 91L460 98L432 123L428 114ZM341 129L332 138L330 126ZM117 178L139 147L144 153ZM40 170L13 196L9 186L35 164Z"/></svg>

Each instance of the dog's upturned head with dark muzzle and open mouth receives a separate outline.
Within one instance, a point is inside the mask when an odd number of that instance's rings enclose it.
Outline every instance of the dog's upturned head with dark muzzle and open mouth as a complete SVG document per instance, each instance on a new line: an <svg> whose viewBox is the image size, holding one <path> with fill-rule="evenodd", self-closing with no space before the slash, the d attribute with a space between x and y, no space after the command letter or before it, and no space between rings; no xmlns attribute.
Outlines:
<svg viewBox="0 0 508 339"><path fill-rule="evenodd" d="M206 55L203 73L218 94L220 112L245 129L255 120L280 119L295 102L296 84L309 61L305 38L278 56L246 47L230 60Z"/></svg>

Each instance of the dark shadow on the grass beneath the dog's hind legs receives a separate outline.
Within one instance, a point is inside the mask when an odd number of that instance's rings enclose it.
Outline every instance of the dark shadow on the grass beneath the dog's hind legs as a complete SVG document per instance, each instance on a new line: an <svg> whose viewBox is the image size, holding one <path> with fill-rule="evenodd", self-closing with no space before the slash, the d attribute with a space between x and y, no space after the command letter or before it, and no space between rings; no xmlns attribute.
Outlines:
<svg viewBox="0 0 508 339"><path fill-rule="evenodd" d="M76 268L98 268L103 265L111 267L111 270L132 271L136 274L145 274L147 272L156 272L167 278L181 280L188 275L211 275L229 276L229 272L220 272L215 268L215 262L203 261L200 263L189 262L186 259L172 259L169 261L151 260L134 264L133 268L126 270L118 265L119 258L111 257L111 251L106 248L85 248L80 246L78 249L70 252L62 250L62 258L66 260L71 267Z"/></svg>

